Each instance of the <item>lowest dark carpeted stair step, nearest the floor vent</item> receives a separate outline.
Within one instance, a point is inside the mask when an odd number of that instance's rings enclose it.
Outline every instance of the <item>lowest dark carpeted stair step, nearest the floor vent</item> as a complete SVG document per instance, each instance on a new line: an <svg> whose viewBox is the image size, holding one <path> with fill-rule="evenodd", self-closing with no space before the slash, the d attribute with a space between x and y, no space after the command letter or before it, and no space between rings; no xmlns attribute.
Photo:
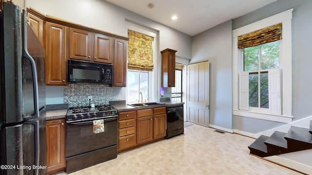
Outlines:
<svg viewBox="0 0 312 175"><path fill-rule="evenodd" d="M264 141L269 137L261 135L258 139L256 139L250 146L248 146L250 150L250 154L259 156L259 157L267 157L268 150L267 145L264 144Z"/></svg>

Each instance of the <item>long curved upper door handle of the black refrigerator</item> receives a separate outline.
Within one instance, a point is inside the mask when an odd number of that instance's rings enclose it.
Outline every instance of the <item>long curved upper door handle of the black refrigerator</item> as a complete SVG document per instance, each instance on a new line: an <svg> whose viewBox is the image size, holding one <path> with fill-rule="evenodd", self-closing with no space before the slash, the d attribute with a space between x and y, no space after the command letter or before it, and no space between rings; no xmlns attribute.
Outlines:
<svg viewBox="0 0 312 175"><path fill-rule="evenodd" d="M39 118L39 100L38 100L38 76L36 69L35 60L29 55L27 50L27 22L26 22L27 12L23 9L22 13L22 56L27 58L31 63L32 75L33 75L33 87L34 87L34 114L29 117L24 117L24 119L35 119Z"/></svg>

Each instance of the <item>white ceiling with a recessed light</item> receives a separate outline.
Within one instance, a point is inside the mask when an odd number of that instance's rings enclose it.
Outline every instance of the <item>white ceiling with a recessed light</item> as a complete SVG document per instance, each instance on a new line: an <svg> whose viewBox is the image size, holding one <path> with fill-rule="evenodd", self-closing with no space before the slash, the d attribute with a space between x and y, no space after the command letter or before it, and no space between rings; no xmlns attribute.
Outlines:
<svg viewBox="0 0 312 175"><path fill-rule="evenodd" d="M106 0L194 36L276 0ZM147 4L153 3L153 9ZM173 15L178 18L174 21Z"/></svg>

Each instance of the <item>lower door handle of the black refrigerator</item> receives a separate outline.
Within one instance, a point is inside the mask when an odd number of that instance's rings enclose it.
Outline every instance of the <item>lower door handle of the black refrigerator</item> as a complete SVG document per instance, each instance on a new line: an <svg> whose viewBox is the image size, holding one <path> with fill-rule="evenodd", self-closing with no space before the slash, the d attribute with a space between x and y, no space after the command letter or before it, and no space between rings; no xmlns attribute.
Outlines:
<svg viewBox="0 0 312 175"><path fill-rule="evenodd" d="M40 143L39 143L39 121L29 121L25 122L24 124L32 124L34 125L34 130L35 130L35 166L39 166L39 148L40 148ZM34 175L38 175L39 170L36 168L34 170Z"/></svg>

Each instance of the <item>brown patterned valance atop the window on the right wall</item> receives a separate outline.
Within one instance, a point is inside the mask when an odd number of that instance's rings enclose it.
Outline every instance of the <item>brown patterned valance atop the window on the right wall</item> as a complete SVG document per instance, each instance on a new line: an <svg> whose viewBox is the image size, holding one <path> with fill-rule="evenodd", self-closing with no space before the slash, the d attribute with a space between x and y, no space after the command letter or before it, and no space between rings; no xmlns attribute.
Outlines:
<svg viewBox="0 0 312 175"><path fill-rule="evenodd" d="M238 48L258 46L282 39L282 23L238 36Z"/></svg>

